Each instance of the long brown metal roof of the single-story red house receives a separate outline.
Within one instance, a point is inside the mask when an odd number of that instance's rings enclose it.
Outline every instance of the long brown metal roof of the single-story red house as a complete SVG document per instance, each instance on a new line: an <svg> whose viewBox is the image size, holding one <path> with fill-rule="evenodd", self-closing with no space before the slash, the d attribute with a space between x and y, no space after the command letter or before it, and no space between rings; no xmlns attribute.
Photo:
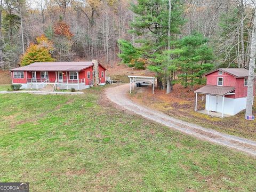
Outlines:
<svg viewBox="0 0 256 192"><path fill-rule="evenodd" d="M35 62L28 66L11 69L10 71L81 71L93 65L92 61Z"/></svg>

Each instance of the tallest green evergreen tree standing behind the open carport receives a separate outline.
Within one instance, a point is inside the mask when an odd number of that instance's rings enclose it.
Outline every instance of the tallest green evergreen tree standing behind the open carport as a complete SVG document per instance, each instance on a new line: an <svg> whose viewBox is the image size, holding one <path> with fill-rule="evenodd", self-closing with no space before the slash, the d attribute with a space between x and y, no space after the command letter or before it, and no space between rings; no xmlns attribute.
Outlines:
<svg viewBox="0 0 256 192"><path fill-rule="evenodd" d="M133 29L131 33L137 35L136 43L139 45L139 48L134 47L133 50L140 50L140 55L138 57L136 51L126 51L119 55L121 58L135 58L137 62L139 59L143 59L143 63L147 64L150 70L157 73L158 87L163 87L162 82L165 82L167 74L170 74L168 69L175 68L168 66L172 65L172 62L170 62L170 58L166 58L165 53L168 41L177 39L177 34L180 33L180 26L184 23L182 18L183 7L180 1L172 0L171 2L171 12L169 1L166 0L138 0L137 4L132 5L132 11L136 16L134 21L131 22L131 28ZM169 15L169 13L171 14ZM170 37L168 37L169 31ZM121 51L125 49L126 45L121 44ZM131 49L131 46L129 48ZM171 47L171 49L174 48ZM123 62L134 66L132 63L135 61L123 60Z"/></svg>

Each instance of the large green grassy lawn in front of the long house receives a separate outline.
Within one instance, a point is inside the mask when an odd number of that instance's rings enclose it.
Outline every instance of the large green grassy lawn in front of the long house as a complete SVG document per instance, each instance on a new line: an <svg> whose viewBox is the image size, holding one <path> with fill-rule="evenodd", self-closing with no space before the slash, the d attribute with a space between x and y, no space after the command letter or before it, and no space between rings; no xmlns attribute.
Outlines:
<svg viewBox="0 0 256 192"><path fill-rule="evenodd" d="M0 95L0 182L31 191L255 191L255 158L83 95ZM108 103L108 102L105 102Z"/></svg>

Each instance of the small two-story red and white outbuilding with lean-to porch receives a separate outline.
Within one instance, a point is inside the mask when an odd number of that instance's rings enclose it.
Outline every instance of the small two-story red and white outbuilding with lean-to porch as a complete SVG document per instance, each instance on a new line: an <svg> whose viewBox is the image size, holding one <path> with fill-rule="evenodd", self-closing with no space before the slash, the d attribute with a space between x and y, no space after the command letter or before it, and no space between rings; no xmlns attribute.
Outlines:
<svg viewBox="0 0 256 192"><path fill-rule="evenodd" d="M196 90L197 94L206 95L207 113L218 112L223 117L236 115L246 108L247 78L249 70L243 68L219 68L205 74L206 85ZM255 85L254 85L255 94Z"/></svg>

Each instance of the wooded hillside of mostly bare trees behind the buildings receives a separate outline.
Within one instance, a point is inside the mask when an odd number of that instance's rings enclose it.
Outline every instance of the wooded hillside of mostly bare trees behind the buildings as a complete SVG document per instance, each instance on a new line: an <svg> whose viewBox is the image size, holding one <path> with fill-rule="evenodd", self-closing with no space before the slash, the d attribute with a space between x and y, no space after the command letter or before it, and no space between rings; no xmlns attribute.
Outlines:
<svg viewBox="0 0 256 192"><path fill-rule="evenodd" d="M142 2L144 7L139 6ZM191 38L194 41L195 37L191 35L199 34L205 39L202 43L213 51L211 63L247 67L253 17L251 1L172 0L171 3L171 41L182 38L187 38L184 41ZM0 66L3 69L20 65L22 55L31 44L37 44L36 38L43 34L53 45L50 54L54 60L98 58L105 65L113 66L120 61L117 56L120 53L118 39L131 42L133 46L145 43L141 37L151 41L159 39L158 35L161 34L154 34L154 29L146 26L147 22L151 22L151 16L154 16L154 20L150 25L157 23L157 19L166 18L165 21L161 20L165 27L156 27L167 31L169 11L167 0L1 0L0 6ZM150 15L144 12L145 9L149 12L156 10L160 14ZM148 14L149 18L144 18L145 22L140 23L138 18L141 16L143 19L143 14ZM151 34L145 33L148 29ZM132 33L134 30L140 34ZM161 44L161 41L158 43ZM179 49L182 47L185 46L177 46ZM177 52L172 54L175 58ZM149 65L155 62L152 59L159 58L150 59L147 60Z"/></svg>

